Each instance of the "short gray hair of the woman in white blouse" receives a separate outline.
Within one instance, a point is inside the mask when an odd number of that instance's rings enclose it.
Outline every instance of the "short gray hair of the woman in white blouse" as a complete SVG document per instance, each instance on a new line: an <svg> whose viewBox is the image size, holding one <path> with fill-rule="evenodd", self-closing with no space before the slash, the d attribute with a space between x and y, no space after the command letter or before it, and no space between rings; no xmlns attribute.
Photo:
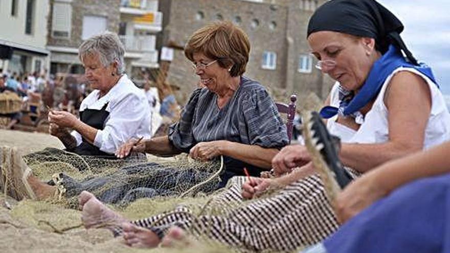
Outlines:
<svg viewBox="0 0 450 253"><path fill-rule="evenodd" d="M125 63L123 56L125 48L116 33L106 31L83 41L78 48L80 61L83 62L84 57L91 54L98 54L104 67L117 61L116 74L121 75L124 73Z"/></svg>

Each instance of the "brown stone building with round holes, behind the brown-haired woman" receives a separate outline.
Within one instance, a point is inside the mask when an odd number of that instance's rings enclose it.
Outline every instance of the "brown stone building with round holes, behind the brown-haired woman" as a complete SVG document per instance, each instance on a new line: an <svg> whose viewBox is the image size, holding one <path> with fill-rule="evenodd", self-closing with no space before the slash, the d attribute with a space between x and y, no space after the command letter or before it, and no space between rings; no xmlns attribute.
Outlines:
<svg viewBox="0 0 450 253"><path fill-rule="evenodd" d="M325 98L332 81L314 68L306 41L307 22L325 0L164 0L163 36L159 46L175 48L168 82L179 86L182 103L198 83L183 47L198 28L231 20L249 35L252 49L246 76L295 93L300 100L313 92Z"/></svg>

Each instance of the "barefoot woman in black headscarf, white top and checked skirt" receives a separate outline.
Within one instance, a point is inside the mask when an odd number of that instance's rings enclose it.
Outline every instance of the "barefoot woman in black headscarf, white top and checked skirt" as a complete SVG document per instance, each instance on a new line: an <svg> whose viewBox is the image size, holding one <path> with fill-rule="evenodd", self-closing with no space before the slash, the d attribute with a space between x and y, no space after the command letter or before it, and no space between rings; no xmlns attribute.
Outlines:
<svg viewBox="0 0 450 253"><path fill-rule="evenodd" d="M328 124L346 142L340 157L354 169L353 174L449 139L450 115L442 95L430 69L417 64L404 46L399 36L402 29L391 12L372 0L329 1L309 21L308 42L320 60L318 66L341 87L333 89L330 100L341 107L332 111L341 112ZM278 179L254 178L243 185L242 195L250 198L267 186L285 187L277 194L244 202L223 216L194 219L181 207L129 222L84 192L80 195L83 220L86 227L112 222L115 226L108 228L125 232L130 245L156 246L169 227L179 226L243 250L294 250L317 243L338 228L310 160L303 146L283 148L273 159L275 171L283 174L302 167Z"/></svg>

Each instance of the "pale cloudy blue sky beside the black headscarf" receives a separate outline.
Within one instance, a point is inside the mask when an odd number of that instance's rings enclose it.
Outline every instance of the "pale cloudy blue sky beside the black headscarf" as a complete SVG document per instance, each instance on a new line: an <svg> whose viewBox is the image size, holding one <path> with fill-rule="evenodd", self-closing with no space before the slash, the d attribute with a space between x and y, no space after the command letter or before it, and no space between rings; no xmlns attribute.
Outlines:
<svg viewBox="0 0 450 253"><path fill-rule="evenodd" d="M433 68L450 100L450 1L378 0L404 25L403 40L414 56Z"/></svg>

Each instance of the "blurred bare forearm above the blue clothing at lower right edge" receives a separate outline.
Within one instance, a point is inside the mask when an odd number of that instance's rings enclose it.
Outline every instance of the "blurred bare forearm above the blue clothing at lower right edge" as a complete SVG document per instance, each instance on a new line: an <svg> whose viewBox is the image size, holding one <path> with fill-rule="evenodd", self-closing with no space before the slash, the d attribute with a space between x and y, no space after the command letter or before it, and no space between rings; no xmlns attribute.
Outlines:
<svg viewBox="0 0 450 253"><path fill-rule="evenodd" d="M424 152L393 160L369 172L387 192L423 177L450 172L450 142Z"/></svg>

